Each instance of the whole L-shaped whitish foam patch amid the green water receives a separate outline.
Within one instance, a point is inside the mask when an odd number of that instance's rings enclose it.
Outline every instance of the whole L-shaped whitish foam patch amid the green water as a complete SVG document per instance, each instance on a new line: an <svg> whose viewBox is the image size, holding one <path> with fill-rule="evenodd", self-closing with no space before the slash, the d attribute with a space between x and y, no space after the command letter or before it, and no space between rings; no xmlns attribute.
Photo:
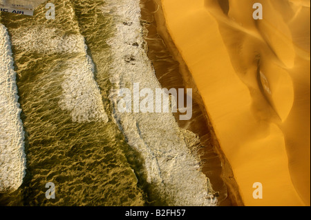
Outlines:
<svg viewBox="0 0 311 220"><path fill-rule="evenodd" d="M109 121L82 34L64 35L57 28L34 26L12 30L12 36L12 43L20 50L70 55L62 61L64 70L57 72L64 79L60 108L68 110L74 122Z"/></svg>

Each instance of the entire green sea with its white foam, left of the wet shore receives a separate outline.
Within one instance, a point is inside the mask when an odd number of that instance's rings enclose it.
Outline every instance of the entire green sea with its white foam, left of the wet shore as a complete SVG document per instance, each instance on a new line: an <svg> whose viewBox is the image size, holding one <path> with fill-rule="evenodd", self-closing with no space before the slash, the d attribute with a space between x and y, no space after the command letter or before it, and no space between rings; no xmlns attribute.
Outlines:
<svg viewBox="0 0 311 220"><path fill-rule="evenodd" d="M10 106L22 110L6 135L19 135L12 146L26 169L10 173L19 188L1 193L0 204L214 206L194 133L180 129L171 113L117 110L118 89L161 88L147 57L140 1L50 2L55 20L46 20L44 4L34 17L1 14L14 60L5 59L17 74L11 90L19 98ZM1 157L15 157L2 153L3 143ZM55 183L56 199L45 198L48 182Z"/></svg>

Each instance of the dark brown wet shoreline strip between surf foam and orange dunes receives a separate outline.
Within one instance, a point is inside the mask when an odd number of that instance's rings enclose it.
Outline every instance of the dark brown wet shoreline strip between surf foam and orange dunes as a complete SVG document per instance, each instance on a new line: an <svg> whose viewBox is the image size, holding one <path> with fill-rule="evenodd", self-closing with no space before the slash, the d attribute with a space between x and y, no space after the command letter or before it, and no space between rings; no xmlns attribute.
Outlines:
<svg viewBox="0 0 311 220"><path fill-rule="evenodd" d="M190 121L179 121L180 128L198 134L202 144L200 158L202 172L209 178L213 190L219 192L218 206L244 206L234 174L225 154L220 149L209 116L194 78L167 30L160 0L141 1L142 21L149 34L148 57L156 70L156 77L164 88L192 88L194 90L194 116ZM160 59L159 59L160 57ZM165 59L163 59L165 58ZM163 61L164 60L164 61Z"/></svg>

